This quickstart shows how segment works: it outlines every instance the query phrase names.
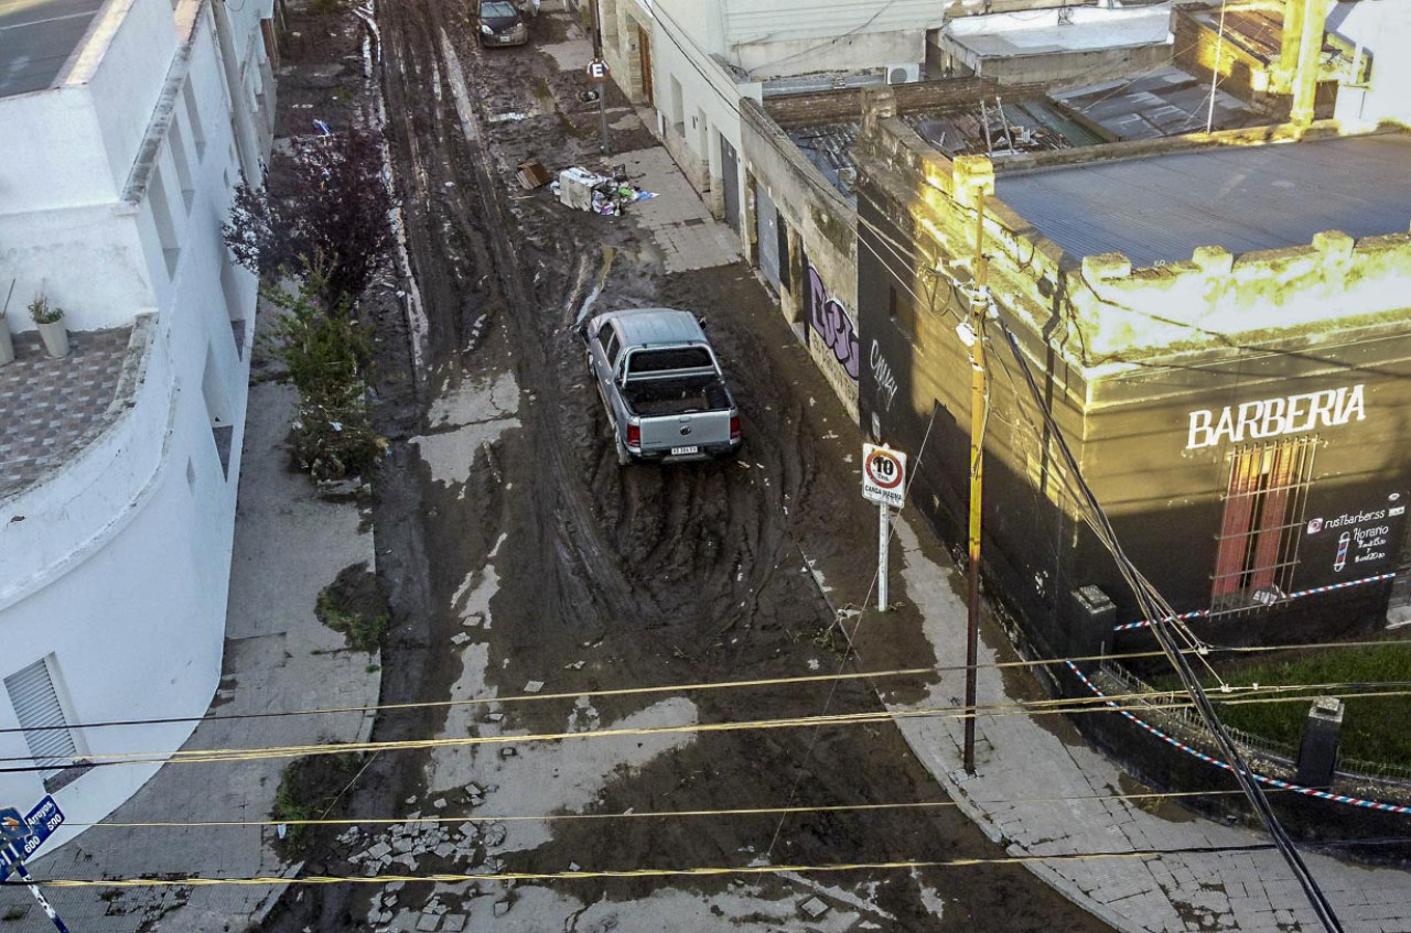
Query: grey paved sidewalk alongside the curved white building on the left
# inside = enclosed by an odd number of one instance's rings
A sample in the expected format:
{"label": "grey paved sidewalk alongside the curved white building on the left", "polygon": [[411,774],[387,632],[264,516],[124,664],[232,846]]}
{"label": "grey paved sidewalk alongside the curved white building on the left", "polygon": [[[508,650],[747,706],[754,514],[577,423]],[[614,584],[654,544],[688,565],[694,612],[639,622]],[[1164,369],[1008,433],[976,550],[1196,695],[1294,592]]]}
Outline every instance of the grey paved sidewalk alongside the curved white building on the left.
{"label": "grey paved sidewalk alongside the curved white building on the left", "polygon": [[[340,569],[360,561],[373,567],[373,534],[360,527],[357,505],[323,502],[306,475],[291,472],[284,438],[293,400],[286,385],[250,388],[224,665],[209,715],[377,703],[378,657],[347,650],[343,636],[313,614],[319,591]],[[364,713],[206,722],[185,748],[356,741],[371,722]],[[107,822],[268,820],[288,762],[168,764]],[[30,867],[37,878],[288,875],[293,867],[275,857],[272,840],[268,826],[99,824]],[[237,885],[48,888],[47,896],[75,933],[226,933],[247,929],[278,892]],[[54,930],[24,888],[0,891],[0,915],[6,933]]]}

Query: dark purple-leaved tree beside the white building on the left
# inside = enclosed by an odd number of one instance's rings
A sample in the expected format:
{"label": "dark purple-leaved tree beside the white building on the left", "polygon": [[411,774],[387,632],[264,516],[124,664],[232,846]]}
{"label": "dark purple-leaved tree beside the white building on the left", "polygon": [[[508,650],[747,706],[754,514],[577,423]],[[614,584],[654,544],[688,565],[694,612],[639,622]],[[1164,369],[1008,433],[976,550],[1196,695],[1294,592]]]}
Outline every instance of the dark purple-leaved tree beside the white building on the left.
{"label": "dark purple-leaved tree beside the white building on the left", "polygon": [[356,300],[391,244],[392,194],[382,178],[381,134],[351,128],[298,137],[277,155],[267,186],[241,179],[222,228],[236,261],[272,276],[315,257],[330,309]]}

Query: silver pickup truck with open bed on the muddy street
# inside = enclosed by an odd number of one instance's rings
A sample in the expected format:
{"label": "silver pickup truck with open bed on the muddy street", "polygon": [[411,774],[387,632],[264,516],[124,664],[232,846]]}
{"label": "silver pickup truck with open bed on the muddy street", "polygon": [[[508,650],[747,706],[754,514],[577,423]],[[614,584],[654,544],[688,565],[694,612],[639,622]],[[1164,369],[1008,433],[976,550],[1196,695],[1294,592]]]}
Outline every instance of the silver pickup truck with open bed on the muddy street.
{"label": "silver pickup truck with open bed on the muddy street", "polygon": [[700,323],[642,307],[588,320],[588,368],[619,464],[708,459],[739,450],[739,410]]}

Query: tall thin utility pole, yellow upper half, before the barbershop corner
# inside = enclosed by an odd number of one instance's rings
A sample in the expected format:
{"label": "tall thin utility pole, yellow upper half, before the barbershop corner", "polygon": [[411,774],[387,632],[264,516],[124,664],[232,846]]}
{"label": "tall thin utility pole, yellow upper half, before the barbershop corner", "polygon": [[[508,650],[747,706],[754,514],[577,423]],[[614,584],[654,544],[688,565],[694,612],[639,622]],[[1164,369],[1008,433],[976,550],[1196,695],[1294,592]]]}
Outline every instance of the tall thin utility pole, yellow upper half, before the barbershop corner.
{"label": "tall thin utility pole, yellow upper half, before the barbershop corner", "polygon": [[975,192],[975,275],[971,286],[971,514],[965,613],[965,774],[975,774],[975,665],[979,654],[979,534],[985,483],[985,314],[989,310],[989,264],[985,261],[985,189]]}

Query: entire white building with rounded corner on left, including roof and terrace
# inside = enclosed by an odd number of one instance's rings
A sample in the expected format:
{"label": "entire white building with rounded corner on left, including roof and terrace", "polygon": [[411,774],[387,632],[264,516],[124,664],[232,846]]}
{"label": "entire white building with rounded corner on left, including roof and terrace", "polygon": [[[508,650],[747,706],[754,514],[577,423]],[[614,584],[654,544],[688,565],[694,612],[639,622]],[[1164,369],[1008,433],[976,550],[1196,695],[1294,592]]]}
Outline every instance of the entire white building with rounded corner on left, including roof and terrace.
{"label": "entire white building with rounded corner on left, including roof and terrace", "polygon": [[[220,679],[255,306],[220,225],[268,154],[271,16],[0,7],[0,757],[38,764],[0,774],[0,806],[102,819],[157,770],[104,757],[193,723],[95,723],[199,717]],[[66,358],[30,333],[41,292]]]}

